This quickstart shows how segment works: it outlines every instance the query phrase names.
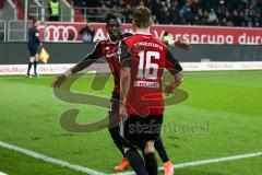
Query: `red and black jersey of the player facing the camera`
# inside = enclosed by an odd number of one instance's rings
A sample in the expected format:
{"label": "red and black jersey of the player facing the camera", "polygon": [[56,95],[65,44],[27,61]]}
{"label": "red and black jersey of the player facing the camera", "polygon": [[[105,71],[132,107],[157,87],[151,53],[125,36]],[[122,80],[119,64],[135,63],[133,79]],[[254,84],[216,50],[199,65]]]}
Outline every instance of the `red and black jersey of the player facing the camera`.
{"label": "red and black jersey of the player facing the camera", "polygon": [[81,62],[86,62],[84,67],[88,67],[97,59],[106,57],[109,68],[114,75],[115,88],[114,92],[119,93],[120,91],[120,62],[119,62],[119,43],[121,39],[132,36],[131,33],[123,33],[117,42],[111,42],[110,38],[102,39],[97,42],[95,48],[88,54]]}

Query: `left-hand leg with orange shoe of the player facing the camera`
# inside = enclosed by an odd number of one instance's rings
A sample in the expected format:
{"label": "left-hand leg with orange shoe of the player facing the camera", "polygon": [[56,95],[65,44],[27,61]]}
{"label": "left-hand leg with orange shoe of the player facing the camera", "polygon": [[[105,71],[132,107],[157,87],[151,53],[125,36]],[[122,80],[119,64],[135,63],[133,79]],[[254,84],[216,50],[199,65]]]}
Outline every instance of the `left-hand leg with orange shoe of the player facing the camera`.
{"label": "left-hand leg with orange shoe of the player facing the camera", "polygon": [[109,106],[109,113],[108,113],[108,130],[111,136],[111,139],[115,143],[115,145],[118,148],[118,150],[122,153],[123,159],[122,161],[114,167],[115,171],[123,171],[129,166],[128,159],[126,158],[126,154],[123,152],[123,148],[121,144],[121,137],[119,135],[119,95],[112,94],[110,106]]}

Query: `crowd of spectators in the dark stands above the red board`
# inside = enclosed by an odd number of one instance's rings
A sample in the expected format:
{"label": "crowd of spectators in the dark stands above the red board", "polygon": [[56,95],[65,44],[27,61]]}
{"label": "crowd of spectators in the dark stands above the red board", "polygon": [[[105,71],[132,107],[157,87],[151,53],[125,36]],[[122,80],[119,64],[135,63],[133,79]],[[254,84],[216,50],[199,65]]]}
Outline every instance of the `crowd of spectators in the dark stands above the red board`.
{"label": "crowd of spectators in the dark stands above the red board", "polygon": [[[73,0],[75,7],[109,8],[131,21],[135,7],[152,10],[155,24],[262,26],[262,0]],[[97,10],[88,14],[97,15]]]}

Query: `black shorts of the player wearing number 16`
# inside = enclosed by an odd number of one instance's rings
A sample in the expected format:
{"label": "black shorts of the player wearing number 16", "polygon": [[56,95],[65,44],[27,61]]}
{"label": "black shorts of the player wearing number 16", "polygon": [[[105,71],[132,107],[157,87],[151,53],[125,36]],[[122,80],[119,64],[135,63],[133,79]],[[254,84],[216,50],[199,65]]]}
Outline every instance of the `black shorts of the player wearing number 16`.
{"label": "black shorts of the player wearing number 16", "polygon": [[155,141],[159,138],[162,122],[163,115],[150,115],[147,117],[130,115],[126,120],[120,121],[122,144],[144,150],[147,141]]}

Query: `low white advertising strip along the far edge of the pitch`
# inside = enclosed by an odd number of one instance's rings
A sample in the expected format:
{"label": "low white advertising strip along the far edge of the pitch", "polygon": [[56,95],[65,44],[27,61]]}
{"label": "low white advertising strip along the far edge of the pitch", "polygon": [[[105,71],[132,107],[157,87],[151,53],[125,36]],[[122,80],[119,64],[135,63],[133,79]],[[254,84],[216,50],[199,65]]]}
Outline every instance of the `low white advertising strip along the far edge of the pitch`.
{"label": "low white advertising strip along the far edge of the pitch", "polygon": [[[40,74],[61,74],[74,63],[39,65]],[[262,61],[226,61],[226,62],[181,62],[183,71],[217,71],[217,70],[262,70]],[[0,65],[0,75],[25,74],[27,65]],[[109,72],[107,63],[94,63],[81,73]]]}

